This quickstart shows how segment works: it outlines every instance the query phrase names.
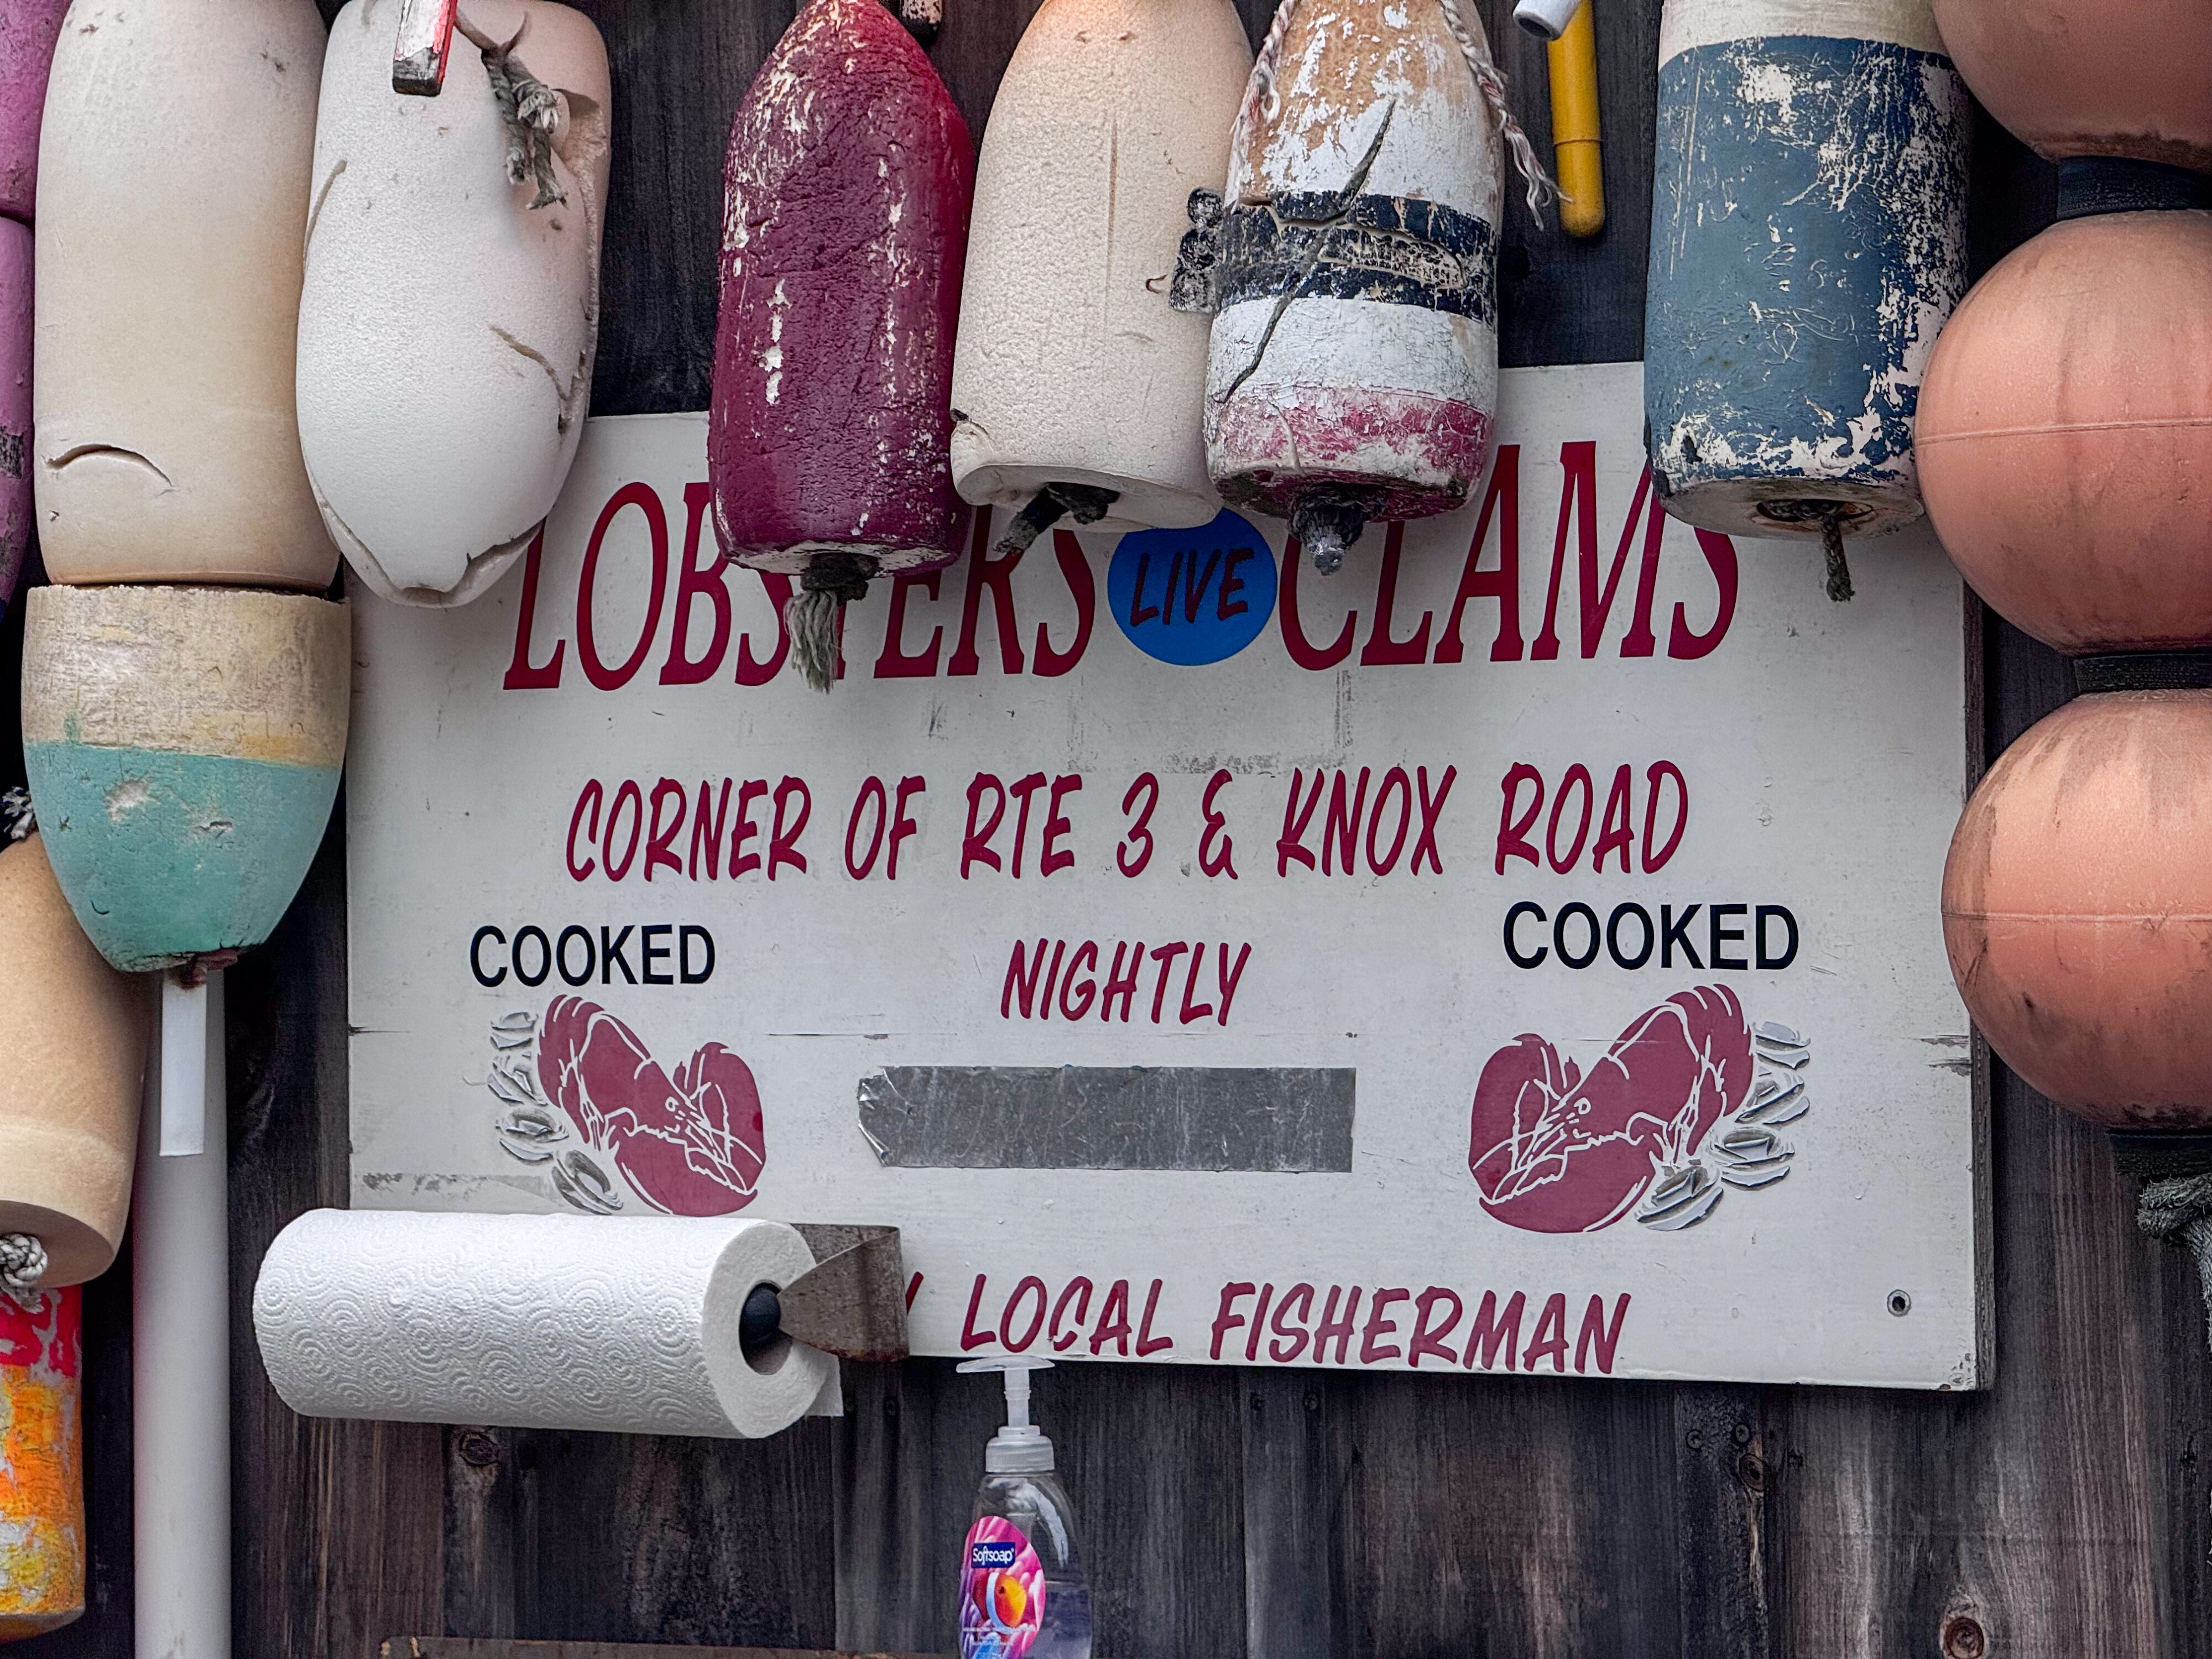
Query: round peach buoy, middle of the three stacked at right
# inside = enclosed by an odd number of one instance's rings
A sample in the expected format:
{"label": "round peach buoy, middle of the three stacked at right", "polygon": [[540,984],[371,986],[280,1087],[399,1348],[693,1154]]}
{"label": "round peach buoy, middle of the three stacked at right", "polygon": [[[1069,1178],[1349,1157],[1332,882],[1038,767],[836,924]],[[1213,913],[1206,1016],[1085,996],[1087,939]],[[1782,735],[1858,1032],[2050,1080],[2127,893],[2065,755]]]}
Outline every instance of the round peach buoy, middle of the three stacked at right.
{"label": "round peach buoy, middle of the three stacked at right", "polygon": [[2212,212],[2068,219],[1936,343],[1920,487],[1989,604],[2068,653],[2212,644]]}

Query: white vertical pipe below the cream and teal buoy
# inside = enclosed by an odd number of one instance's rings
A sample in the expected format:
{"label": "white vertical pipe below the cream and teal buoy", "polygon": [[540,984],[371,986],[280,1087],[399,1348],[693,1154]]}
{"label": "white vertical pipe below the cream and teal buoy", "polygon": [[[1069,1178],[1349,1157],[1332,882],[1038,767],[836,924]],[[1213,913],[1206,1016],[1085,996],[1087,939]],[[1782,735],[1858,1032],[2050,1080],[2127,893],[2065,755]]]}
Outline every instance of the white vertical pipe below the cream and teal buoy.
{"label": "white vertical pipe below the cream and teal buoy", "polygon": [[[197,1029],[184,1018],[188,1006],[204,1011]],[[137,1659],[230,1659],[230,1212],[221,1031],[221,973],[208,975],[204,993],[164,989],[161,1048],[146,1068],[131,1210]],[[190,1155],[170,1152],[170,1104],[190,1093],[166,1086],[168,1079],[190,1082],[179,1062],[197,1064],[201,1084],[199,1150]],[[179,1133],[184,1128],[179,1121]]]}

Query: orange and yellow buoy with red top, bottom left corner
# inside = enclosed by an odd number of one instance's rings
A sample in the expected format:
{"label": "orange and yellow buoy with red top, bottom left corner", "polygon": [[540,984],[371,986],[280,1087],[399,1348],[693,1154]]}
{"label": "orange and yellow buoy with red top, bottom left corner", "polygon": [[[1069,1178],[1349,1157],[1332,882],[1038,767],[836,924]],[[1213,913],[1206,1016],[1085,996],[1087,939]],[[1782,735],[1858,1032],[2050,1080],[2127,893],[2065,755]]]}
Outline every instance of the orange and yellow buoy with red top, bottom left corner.
{"label": "orange and yellow buoy with red top, bottom left corner", "polygon": [[0,1641],[84,1613],[84,1294],[0,1290]]}

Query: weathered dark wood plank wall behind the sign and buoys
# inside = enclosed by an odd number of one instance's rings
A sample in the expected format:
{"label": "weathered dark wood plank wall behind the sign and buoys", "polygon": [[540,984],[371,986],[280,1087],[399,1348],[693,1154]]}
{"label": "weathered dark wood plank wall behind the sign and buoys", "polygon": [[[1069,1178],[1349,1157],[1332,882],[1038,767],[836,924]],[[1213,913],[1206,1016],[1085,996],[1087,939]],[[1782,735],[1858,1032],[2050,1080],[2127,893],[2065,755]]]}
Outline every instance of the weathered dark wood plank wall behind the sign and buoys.
{"label": "weathered dark wood plank wall behind the sign and buoys", "polygon": [[[336,4],[323,0],[325,13]],[[1597,0],[1610,228],[1513,204],[1509,363],[1641,354],[1657,0]],[[617,179],[595,409],[706,403],[721,144],[794,0],[586,0]],[[1254,35],[1267,0],[1241,0]],[[1033,0],[953,0],[936,51],[980,133]],[[1542,53],[1484,0],[1531,131]],[[1986,122],[1980,265],[2051,212]],[[1989,754],[2068,695],[1978,635]],[[0,653],[20,648],[20,626]],[[0,659],[13,686],[15,657]],[[20,768],[13,774],[20,779]],[[1929,894],[1929,929],[1936,896]],[[847,1416],[765,1444],[301,1422],[248,1296],[296,1212],[345,1201],[334,827],[230,982],[239,1655],[385,1637],[942,1652],[993,1389],[852,1367]],[[1062,1369],[1037,1405],[1088,1528],[1099,1652],[1513,1659],[2212,1655],[2203,1312],[2095,1135],[1993,1068],[1997,1387],[1978,1396],[1194,1369]],[[1750,1270],[1750,1267],[1747,1267]],[[128,1652],[128,1276],[88,1296],[93,1610],[27,1659]],[[429,1646],[425,1648],[429,1650]]]}

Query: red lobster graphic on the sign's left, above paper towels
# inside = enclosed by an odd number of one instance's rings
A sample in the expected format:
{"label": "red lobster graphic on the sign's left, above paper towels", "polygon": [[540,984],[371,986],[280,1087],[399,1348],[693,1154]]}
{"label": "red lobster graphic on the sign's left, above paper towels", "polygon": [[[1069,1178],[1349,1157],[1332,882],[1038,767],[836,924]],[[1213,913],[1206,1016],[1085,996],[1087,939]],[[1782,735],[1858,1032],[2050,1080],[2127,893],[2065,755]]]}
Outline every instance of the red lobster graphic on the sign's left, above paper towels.
{"label": "red lobster graphic on the sign's left, above paper towels", "polygon": [[606,1009],[553,998],[538,1026],[538,1082],[655,1210],[730,1214],[752,1203],[768,1164],[761,1091],[719,1042],[670,1079]]}

